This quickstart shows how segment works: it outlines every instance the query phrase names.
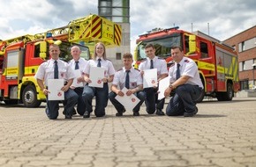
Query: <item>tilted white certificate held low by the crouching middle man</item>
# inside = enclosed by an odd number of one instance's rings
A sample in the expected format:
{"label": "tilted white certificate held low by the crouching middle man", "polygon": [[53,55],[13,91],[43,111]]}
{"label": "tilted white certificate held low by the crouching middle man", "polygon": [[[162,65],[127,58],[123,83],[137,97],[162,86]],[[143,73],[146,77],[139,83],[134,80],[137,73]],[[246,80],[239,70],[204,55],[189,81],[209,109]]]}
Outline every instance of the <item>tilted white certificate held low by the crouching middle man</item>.
{"label": "tilted white certificate held low by the crouching middle man", "polygon": [[137,98],[134,94],[127,96],[126,95],[126,91],[127,88],[123,88],[122,90],[124,92],[124,97],[120,97],[117,95],[116,99],[119,103],[121,103],[122,105],[124,105],[124,108],[128,111],[132,111],[132,109],[138,105],[139,103],[139,98]]}

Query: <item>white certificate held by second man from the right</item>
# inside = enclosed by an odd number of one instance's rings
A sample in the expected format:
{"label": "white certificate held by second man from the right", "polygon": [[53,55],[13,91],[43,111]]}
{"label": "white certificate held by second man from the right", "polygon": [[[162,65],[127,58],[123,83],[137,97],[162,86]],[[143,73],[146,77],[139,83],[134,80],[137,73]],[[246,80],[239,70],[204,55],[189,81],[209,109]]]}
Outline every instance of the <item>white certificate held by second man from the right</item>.
{"label": "white certificate held by second man from the right", "polygon": [[146,69],[143,75],[143,88],[157,86],[157,69]]}

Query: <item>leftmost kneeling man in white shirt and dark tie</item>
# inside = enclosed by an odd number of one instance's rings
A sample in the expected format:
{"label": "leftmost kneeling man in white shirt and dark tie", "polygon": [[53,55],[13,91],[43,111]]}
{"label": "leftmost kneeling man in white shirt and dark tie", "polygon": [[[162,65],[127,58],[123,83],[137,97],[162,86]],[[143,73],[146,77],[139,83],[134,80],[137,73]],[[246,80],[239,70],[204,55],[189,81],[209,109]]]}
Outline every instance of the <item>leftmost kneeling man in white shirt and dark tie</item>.
{"label": "leftmost kneeling man in white shirt and dark tie", "polygon": [[[64,86],[61,88],[64,91],[64,110],[65,119],[72,119],[72,109],[78,101],[78,95],[70,89],[72,85],[73,78],[75,78],[74,72],[67,62],[61,61],[59,59],[60,49],[56,44],[49,46],[49,54],[51,59],[47,62],[41,63],[39,69],[35,74],[37,84],[40,86],[41,91],[47,97],[47,106],[46,114],[49,117],[49,120],[56,120],[59,110],[59,101],[58,100],[48,100],[48,80],[49,79],[64,79]],[[55,70],[57,67],[58,70]],[[55,71],[56,74],[55,74]]]}

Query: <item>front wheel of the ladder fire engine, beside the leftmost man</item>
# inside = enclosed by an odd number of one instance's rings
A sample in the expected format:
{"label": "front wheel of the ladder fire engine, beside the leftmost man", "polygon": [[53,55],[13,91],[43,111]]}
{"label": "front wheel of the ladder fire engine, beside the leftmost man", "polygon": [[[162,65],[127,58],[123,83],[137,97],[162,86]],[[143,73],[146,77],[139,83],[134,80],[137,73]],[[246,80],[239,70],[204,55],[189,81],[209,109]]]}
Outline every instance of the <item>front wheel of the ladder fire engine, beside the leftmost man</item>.
{"label": "front wheel of the ladder fire engine, beside the leftmost man", "polygon": [[36,91],[33,85],[27,85],[22,92],[22,102],[26,107],[33,108],[41,105],[41,101],[36,98]]}

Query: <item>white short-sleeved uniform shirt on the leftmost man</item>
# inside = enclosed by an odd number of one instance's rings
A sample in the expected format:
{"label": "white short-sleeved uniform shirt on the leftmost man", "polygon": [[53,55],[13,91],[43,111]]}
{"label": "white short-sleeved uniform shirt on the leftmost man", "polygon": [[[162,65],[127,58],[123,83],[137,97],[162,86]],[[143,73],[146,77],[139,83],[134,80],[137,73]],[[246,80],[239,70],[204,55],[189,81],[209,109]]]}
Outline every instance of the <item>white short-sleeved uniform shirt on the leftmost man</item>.
{"label": "white short-sleeved uniform shirt on the leftmost man", "polygon": [[[54,79],[54,62],[55,60],[50,59],[47,62],[42,62],[39,66],[35,78],[44,80],[44,84],[48,86],[48,79]],[[67,62],[57,60],[57,67],[58,67],[58,78],[64,79],[64,82],[75,78],[74,71],[68,65]]]}

